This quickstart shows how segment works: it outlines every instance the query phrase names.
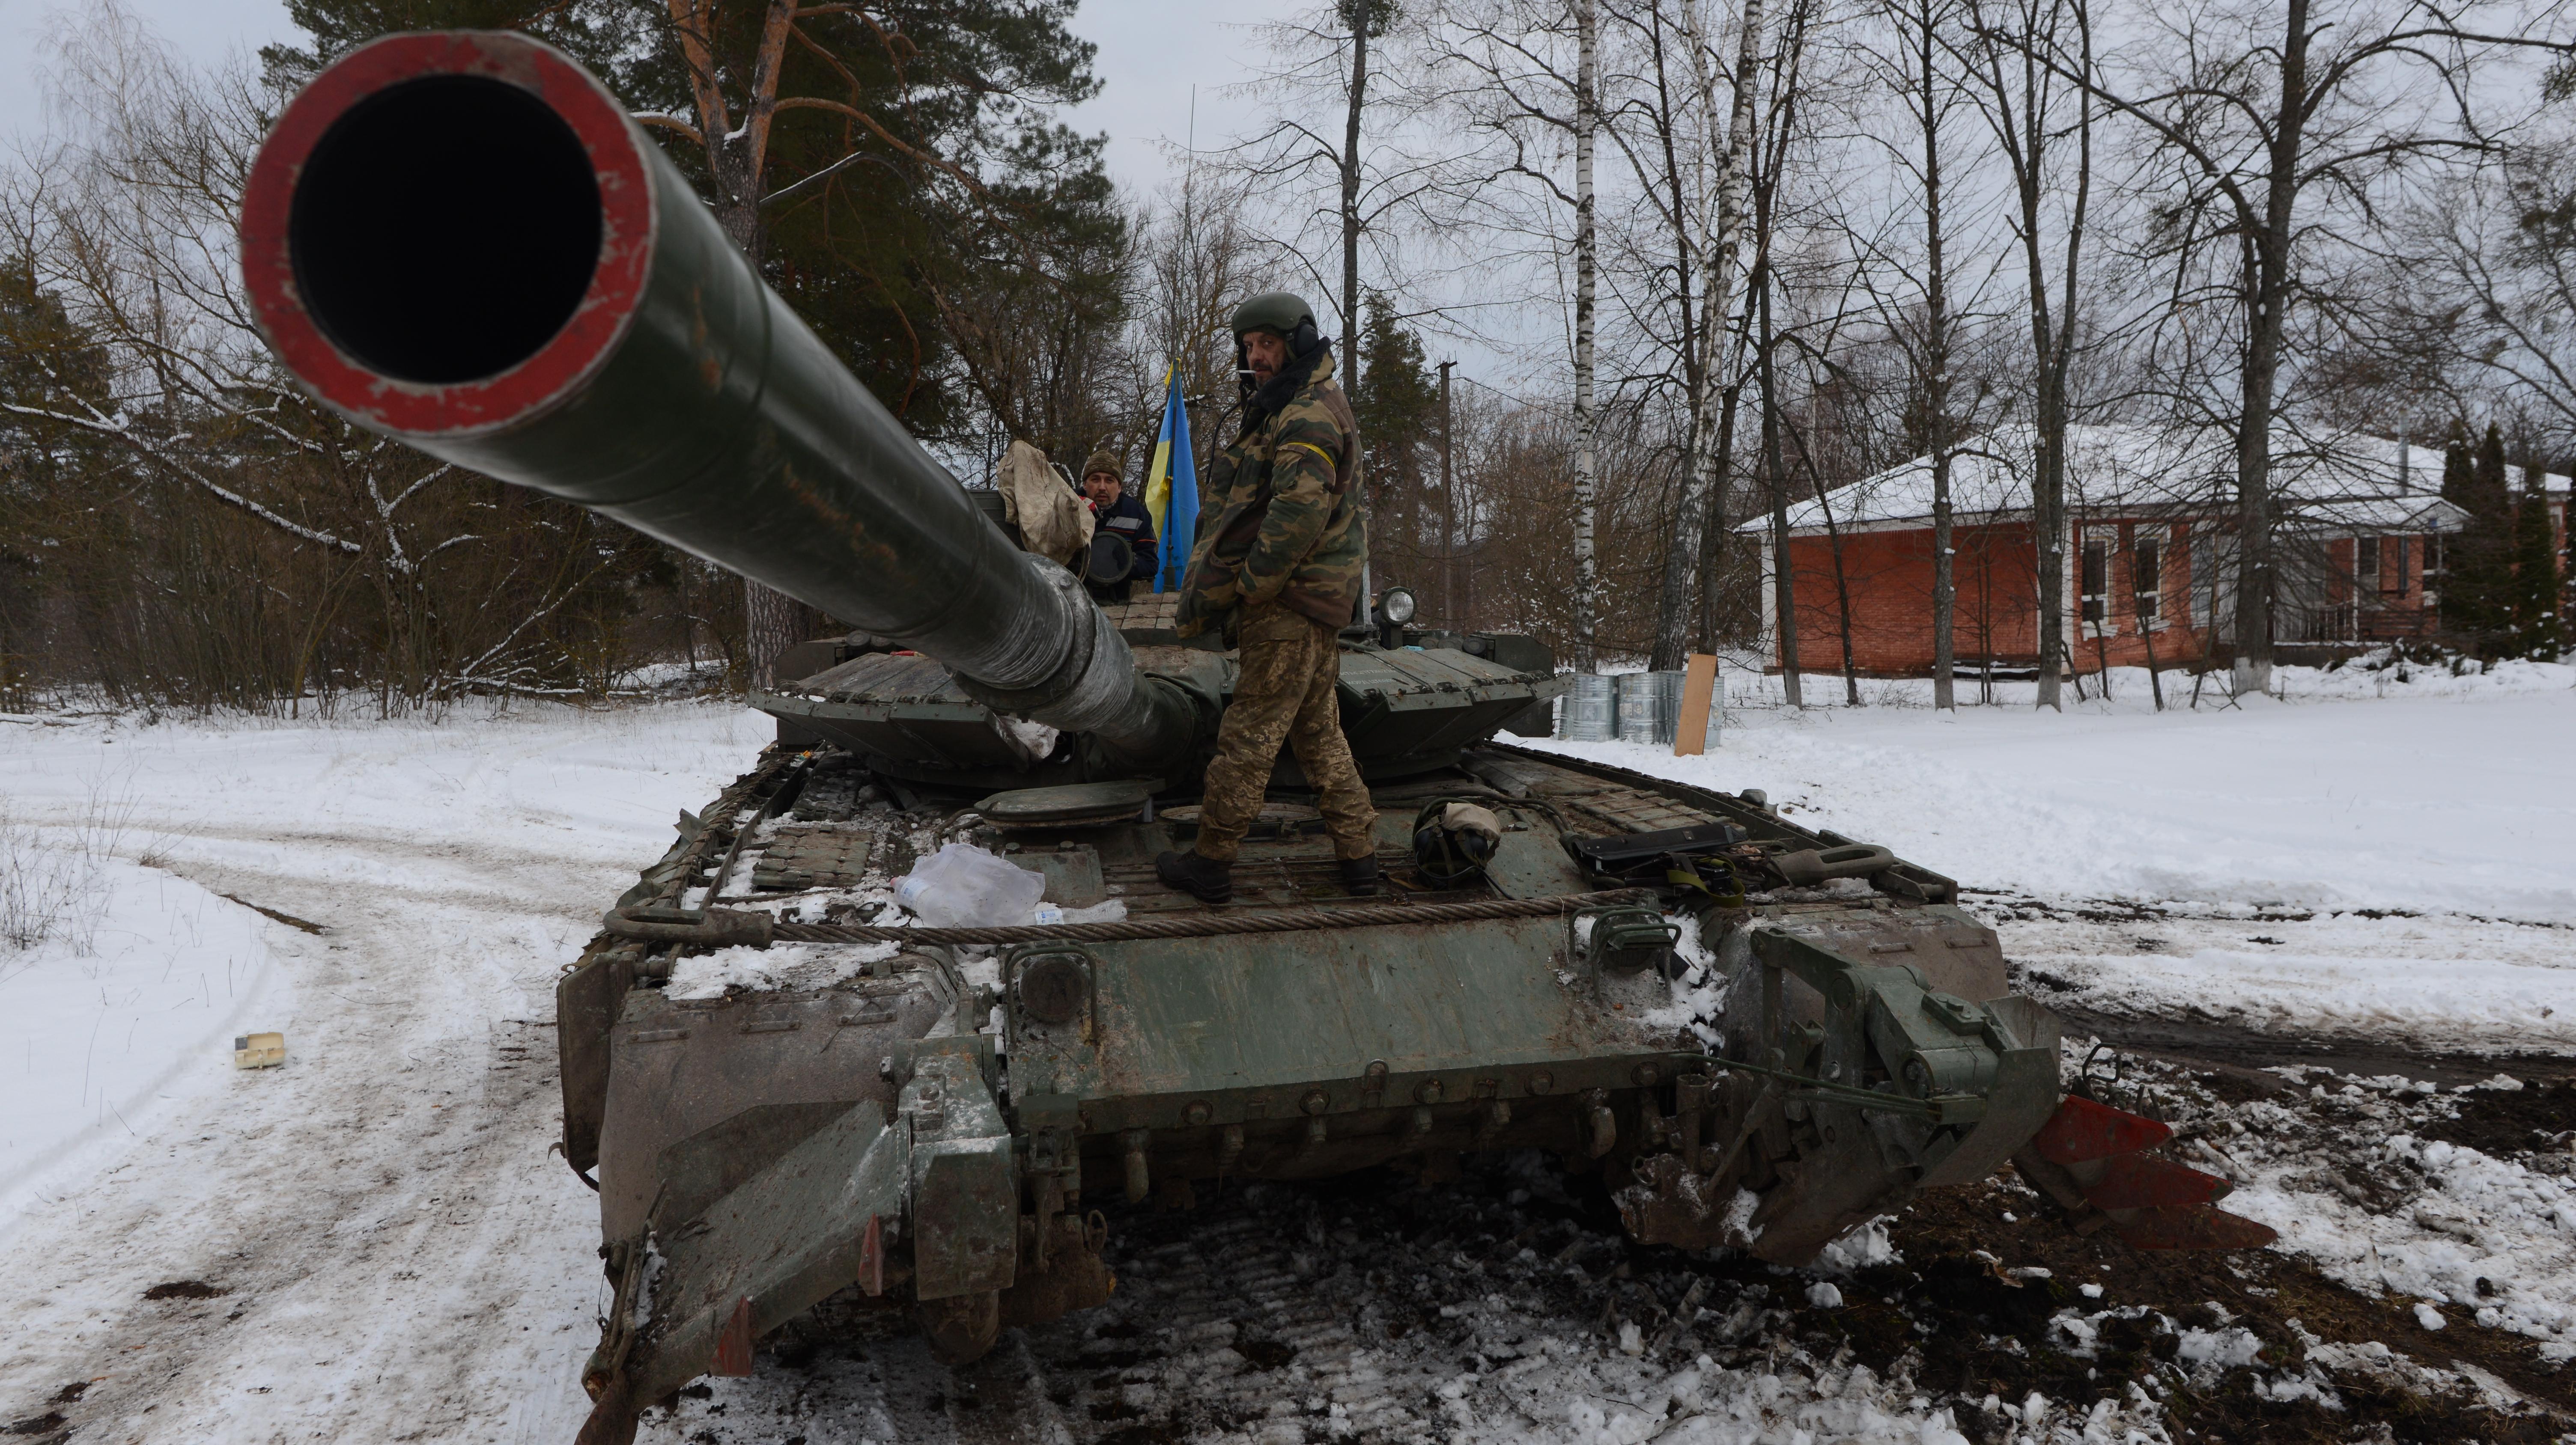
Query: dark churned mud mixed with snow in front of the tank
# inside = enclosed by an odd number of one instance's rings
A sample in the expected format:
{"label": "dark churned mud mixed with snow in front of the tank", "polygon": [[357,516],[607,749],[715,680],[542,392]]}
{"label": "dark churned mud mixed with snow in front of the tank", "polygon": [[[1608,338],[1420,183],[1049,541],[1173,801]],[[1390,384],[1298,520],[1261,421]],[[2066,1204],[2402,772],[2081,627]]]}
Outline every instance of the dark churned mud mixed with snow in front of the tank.
{"label": "dark churned mud mixed with snow in front of the tank", "polygon": [[[2179,1157],[2295,1164],[2360,1208],[2421,1208],[2372,1159],[2393,1126],[2576,1175],[2576,1061],[2522,1090],[2424,1092],[2318,1069],[2298,1041],[2226,1059],[2112,1043],[2071,1066],[2177,1126]],[[2494,1077],[2483,1059],[2416,1059]],[[2347,1090],[2349,1084],[2349,1090]],[[2269,1144],[2264,1144],[2269,1138]],[[2244,1164],[2249,1175],[2277,1172]],[[1842,1260],[1780,1270],[1625,1242],[1597,1180],[1492,1157],[1450,1185],[1373,1172],[1110,1211],[1113,1303],[940,1370],[917,1339],[832,1308],[750,1381],[693,1386],[647,1440],[2262,1440],[2576,1437],[2576,1365],[2543,1339],[2264,1249],[2141,1254],[2079,1236],[2009,1172],[1883,1221]],[[2481,1288],[2486,1280],[2481,1280]]]}

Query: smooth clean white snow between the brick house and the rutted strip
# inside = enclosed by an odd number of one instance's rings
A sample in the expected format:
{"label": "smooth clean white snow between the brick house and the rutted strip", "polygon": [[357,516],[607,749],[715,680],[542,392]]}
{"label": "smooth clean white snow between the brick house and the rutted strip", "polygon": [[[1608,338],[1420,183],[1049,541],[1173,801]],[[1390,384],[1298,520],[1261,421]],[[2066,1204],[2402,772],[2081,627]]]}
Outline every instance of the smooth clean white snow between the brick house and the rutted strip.
{"label": "smooth clean white snow between the brick house and the rutted strip", "polygon": [[[2411,683],[2282,670],[2282,683],[2290,701],[2156,713],[2146,675],[2125,672],[2115,701],[2066,716],[2027,703],[1935,713],[1924,683],[1862,683],[1875,706],[1731,706],[1721,750],[1698,762],[1571,747],[1767,788],[1801,822],[1984,889],[2576,925],[2576,750],[2563,742],[2576,667]],[[1808,677],[1806,695],[1839,703],[1842,680]]]}

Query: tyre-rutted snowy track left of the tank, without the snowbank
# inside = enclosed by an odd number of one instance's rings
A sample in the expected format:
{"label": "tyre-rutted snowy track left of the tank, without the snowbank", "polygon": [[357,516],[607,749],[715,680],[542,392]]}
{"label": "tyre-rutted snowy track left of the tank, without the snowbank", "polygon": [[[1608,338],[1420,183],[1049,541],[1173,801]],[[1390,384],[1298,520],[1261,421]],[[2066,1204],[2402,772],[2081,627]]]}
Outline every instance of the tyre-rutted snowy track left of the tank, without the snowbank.
{"label": "tyre-rutted snowy track left of the tank, without the snowbank", "polygon": [[[299,992],[286,1069],[227,1079],[0,1239],[0,1422],[52,1412],[80,1440],[137,1442],[569,1440],[598,1223],[549,1154],[538,1023],[590,909],[757,747],[734,719],[309,729],[286,750],[273,729],[121,734],[134,837],[327,932],[268,930]],[[654,744],[688,768],[647,765]],[[209,762],[242,752],[263,755],[263,788]],[[227,1293],[142,1298],[170,1280]],[[72,1383],[88,1388],[54,1401]]]}

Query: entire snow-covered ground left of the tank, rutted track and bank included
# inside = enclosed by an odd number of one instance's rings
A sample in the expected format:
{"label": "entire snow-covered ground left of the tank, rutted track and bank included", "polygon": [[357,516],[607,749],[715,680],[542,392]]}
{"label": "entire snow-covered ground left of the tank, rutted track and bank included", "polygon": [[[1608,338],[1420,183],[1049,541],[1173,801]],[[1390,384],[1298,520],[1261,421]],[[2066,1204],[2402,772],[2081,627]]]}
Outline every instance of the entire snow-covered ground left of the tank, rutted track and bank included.
{"label": "entire snow-covered ground left of the tank, rutted track and bank included", "polygon": [[[41,1079],[0,1095],[0,1424],[67,1396],[82,1440],[569,1440],[598,1216],[546,1151],[554,974],[765,734],[0,732],[10,817],[62,837],[108,793],[126,853],[95,953],[0,950],[0,1077]],[[286,1066],[234,1072],[252,1028]],[[173,1283],[204,1288],[147,1298]]]}

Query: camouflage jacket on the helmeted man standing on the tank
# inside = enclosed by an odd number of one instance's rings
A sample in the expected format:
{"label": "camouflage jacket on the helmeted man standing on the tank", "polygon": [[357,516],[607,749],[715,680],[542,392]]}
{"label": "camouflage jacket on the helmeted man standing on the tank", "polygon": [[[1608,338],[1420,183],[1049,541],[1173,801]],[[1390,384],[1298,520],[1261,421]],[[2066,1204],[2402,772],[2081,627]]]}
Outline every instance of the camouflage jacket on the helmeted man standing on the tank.
{"label": "camouflage jacket on the helmeted man standing on the tank", "polygon": [[[1270,392],[1265,386],[1262,392]],[[1257,407],[1208,466],[1198,543],[1180,585],[1180,636],[1229,626],[1247,603],[1280,603],[1324,626],[1360,608],[1360,422],[1332,379],[1332,350],[1267,415]]]}

